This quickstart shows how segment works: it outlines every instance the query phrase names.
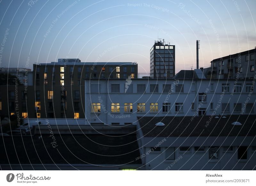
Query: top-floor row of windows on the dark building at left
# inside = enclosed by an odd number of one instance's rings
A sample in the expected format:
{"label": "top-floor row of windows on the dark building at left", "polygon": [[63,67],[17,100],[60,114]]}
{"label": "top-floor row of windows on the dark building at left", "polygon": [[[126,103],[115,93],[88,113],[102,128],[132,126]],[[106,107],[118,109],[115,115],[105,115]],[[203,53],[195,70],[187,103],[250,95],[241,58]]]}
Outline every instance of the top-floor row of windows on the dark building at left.
{"label": "top-floor row of windows on the dark building at left", "polygon": [[[52,72],[55,72],[55,68],[56,67],[52,67]],[[67,67],[60,66],[60,72],[65,72],[66,68]],[[102,72],[105,72],[106,68],[107,67],[100,67]],[[127,72],[127,68],[128,68],[127,66],[122,66],[122,68],[123,68],[123,72]],[[97,72],[97,66],[95,66],[95,67],[84,66],[84,69],[85,69],[85,72],[90,72],[90,69],[93,70],[94,72]],[[108,67],[108,69],[109,69],[109,72],[113,72],[114,68],[112,66],[110,66],[110,67]],[[117,66],[115,69],[116,69],[116,72],[120,72],[120,66]],[[39,67],[36,68],[36,72],[40,72]],[[47,72],[48,72],[48,67],[45,67],[44,68],[44,73],[47,73]],[[74,66],[69,67],[69,72],[71,72],[71,73],[74,72]],[[81,66],[77,67],[77,72],[82,72],[82,67]],[[131,66],[131,72],[135,72],[135,67],[134,66]]]}

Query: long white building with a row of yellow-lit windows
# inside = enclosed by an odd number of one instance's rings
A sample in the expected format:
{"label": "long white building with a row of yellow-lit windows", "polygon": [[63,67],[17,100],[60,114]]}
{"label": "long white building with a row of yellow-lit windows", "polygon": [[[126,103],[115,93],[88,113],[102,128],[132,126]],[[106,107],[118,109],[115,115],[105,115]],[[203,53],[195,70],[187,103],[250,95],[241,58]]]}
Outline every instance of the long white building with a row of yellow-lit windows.
{"label": "long white building with a row of yellow-lit windows", "polygon": [[[199,73],[199,71],[201,73]],[[137,117],[255,114],[254,79],[207,79],[201,70],[175,78],[85,81],[87,124],[135,124]]]}

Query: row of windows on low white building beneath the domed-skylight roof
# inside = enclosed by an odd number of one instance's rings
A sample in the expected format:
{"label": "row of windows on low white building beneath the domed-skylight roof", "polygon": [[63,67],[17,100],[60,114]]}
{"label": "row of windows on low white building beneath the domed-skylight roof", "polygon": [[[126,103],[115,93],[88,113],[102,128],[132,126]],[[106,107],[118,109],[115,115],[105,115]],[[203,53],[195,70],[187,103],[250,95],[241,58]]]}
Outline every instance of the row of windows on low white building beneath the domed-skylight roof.
{"label": "row of windows on low white building beneath the domed-skylight roof", "polygon": [[[256,146],[252,146],[252,152],[256,151]],[[162,153],[165,150],[165,159],[166,160],[174,160],[176,159],[175,157],[175,152],[179,151],[181,153],[191,153],[191,149],[192,147],[179,147],[179,148],[175,148],[175,147],[151,147],[151,153]],[[207,150],[206,150],[207,149]],[[211,146],[211,147],[204,147],[204,146],[195,146],[194,147],[194,152],[195,153],[204,153],[206,154],[208,151],[208,159],[212,159],[212,160],[218,160],[220,159],[220,149],[222,150],[223,154],[226,153],[235,153],[235,147],[233,146],[223,146],[218,147],[218,146]],[[248,159],[248,151],[249,151],[249,147],[248,146],[239,146],[237,147],[237,159]]]}

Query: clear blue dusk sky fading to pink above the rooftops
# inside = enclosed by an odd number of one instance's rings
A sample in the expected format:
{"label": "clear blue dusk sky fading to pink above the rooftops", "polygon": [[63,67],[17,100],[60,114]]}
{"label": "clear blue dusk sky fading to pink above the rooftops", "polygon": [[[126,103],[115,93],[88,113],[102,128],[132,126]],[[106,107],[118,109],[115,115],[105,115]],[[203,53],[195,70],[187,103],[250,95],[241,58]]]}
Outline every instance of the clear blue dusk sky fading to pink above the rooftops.
{"label": "clear blue dusk sky fading to pink above the rooftops", "polygon": [[176,46],[176,73],[195,68],[196,40],[199,67],[209,67],[214,58],[256,46],[255,7],[255,0],[1,0],[0,67],[25,68],[28,57],[31,69],[80,58],[137,62],[139,73],[149,73],[157,37]]}

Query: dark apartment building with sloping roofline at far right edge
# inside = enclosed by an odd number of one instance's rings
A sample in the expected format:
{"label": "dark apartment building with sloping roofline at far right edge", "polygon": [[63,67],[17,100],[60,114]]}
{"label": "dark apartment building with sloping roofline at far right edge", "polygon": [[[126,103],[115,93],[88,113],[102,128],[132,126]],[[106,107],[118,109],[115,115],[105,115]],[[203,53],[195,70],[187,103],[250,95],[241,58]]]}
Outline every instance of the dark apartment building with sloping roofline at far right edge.
{"label": "dark apartment building with sloping roofline at far right edge", "polygon": [[213,59],[205,76],[207,78],[253,78],[255,75],[256,49],[238,52]]}

